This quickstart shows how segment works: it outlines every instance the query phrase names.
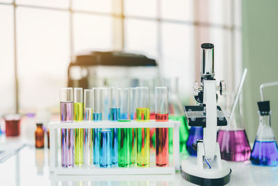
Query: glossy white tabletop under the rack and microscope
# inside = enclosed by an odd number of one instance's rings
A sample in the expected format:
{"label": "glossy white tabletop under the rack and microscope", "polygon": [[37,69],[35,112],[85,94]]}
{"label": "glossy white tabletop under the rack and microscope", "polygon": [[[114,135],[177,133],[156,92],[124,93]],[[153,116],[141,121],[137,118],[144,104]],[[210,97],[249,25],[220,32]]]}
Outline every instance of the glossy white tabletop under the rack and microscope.
{"label": "glossy white tabletop under the rack and microscope", "polygon": [[[278,185],[278,166],[254,166],[250,162],[230,162],[228,185]],[[0,163],[0,185],[193,185],[174,176],[53,176],[49,175],[49,149],[25,146]],[[52,183],[52,184],[51,184]]]}

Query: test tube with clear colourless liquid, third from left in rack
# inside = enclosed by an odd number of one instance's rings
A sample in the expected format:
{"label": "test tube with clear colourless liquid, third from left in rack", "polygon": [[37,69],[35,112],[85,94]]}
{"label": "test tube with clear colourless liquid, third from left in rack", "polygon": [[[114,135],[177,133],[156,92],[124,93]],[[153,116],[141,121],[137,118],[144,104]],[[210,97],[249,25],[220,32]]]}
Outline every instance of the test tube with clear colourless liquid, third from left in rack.
{"label": "test tube with clear colourless liquid, third from left in rack", "polygon": [[[92,102],[93,91],[91,89],[84,90],[84,120],[92,121]],[[92,160],[92,129],[84,129],[84,151],[83,151],[83,164],[90,166]]]}

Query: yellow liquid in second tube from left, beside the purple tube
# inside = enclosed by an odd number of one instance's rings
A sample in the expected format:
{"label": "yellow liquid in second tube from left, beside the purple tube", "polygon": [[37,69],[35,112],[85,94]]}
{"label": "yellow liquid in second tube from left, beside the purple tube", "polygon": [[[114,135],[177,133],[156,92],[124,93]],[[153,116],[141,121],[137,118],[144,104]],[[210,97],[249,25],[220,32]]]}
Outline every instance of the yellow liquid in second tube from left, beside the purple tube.
{"label": "yellow liquid in second tube from left, beside the purple tube", "polygon": [[[83,121],[83,103],[82,102],[74,102],[74,121]],[[83,129],[75,129],[74,134],[74,163],[76,166],[83,165]]]}

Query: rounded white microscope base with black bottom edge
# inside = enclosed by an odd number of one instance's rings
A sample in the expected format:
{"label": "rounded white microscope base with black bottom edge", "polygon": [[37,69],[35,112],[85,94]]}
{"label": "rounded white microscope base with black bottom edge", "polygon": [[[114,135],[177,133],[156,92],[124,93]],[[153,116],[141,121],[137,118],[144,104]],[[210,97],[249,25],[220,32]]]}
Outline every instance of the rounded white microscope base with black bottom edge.
{"label": "rounded white microscope base with black bottom edge", "polygon": [[221,160],[222,169],[199,169],[196,157],[188,157],[181,163],[181,176],[197,185],[226,185],[230,181],[229,164]]}

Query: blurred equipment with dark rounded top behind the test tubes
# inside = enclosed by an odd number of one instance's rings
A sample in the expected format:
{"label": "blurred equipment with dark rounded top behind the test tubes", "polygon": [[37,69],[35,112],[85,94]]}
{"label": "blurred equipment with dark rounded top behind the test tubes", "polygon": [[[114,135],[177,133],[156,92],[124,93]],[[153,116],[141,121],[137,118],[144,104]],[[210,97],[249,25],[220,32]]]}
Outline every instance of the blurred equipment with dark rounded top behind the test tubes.
{"label": "blurred equipment with dark rounded top behind the test tubes", "polygon": [[154,59],[128,52],[79,54],[68,67],[68,87],[134,87],[138,79],[158,77]]}

